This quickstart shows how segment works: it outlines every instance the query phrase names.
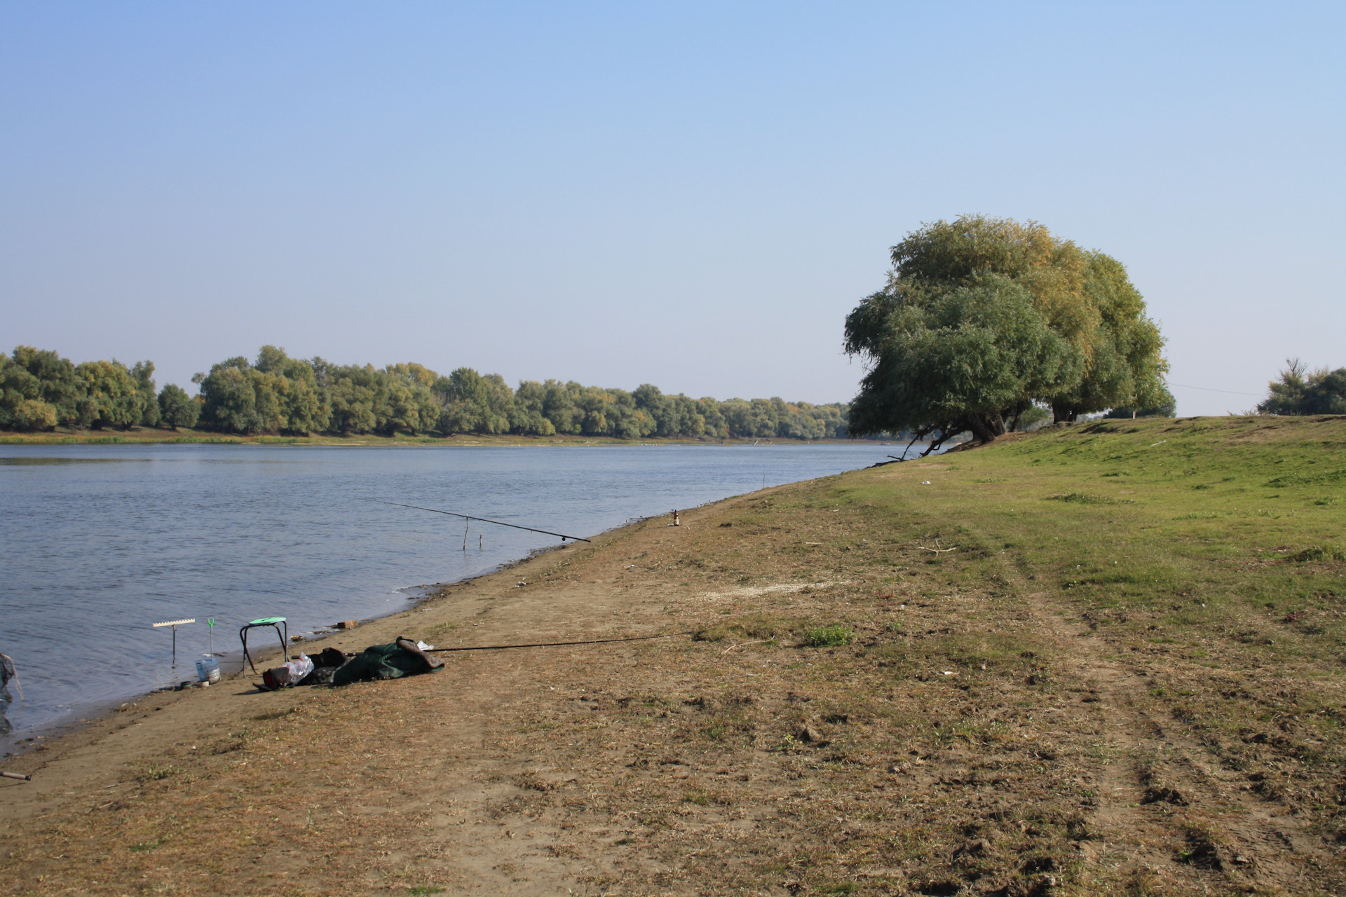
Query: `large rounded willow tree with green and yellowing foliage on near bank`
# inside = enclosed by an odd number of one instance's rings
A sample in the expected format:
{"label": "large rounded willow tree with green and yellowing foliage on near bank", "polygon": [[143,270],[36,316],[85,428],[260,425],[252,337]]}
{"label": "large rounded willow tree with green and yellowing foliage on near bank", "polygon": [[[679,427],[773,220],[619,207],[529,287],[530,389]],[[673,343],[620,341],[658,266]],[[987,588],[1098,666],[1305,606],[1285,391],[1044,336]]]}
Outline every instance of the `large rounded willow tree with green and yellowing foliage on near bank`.
{"label": "large rounded willow tree with green and yellowing foliage on near bank", "polygon": [[882,290],[845,321],[868,366],[851,433],[983,442],[1034,403],[1057,421],[1167,397],[1163,338],[1125,268],[1035,222],[964,215],[892,247]]}

